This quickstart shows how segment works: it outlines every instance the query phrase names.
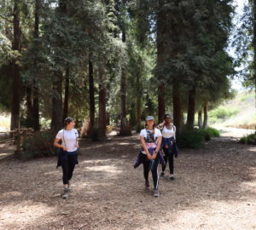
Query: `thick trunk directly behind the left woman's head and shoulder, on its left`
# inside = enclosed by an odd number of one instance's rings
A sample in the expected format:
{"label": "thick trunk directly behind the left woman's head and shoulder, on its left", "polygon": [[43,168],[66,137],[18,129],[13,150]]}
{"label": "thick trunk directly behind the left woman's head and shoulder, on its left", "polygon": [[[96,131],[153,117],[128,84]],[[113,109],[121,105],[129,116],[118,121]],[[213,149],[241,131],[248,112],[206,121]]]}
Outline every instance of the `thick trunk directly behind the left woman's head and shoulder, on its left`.
{"label": "thick trunk directly behind the left woman's head and shoulder, on its left", "polygon": [[52,117],[50,128],[56,133],[62,127],[62,73],[56,72],[53,84]]}

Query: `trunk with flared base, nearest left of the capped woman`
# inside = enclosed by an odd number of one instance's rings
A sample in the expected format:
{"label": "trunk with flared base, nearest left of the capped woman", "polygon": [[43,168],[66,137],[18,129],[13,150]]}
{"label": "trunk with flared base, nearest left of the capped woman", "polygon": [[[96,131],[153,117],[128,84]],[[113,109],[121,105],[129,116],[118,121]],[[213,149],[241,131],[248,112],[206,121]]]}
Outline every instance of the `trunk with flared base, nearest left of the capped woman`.
{"label": "trunk with flared base, nearest left of the capped woman", "polygon": [[[122,41],[125,43],[125,29],[122,31]],[[121,74],[121,87],[120,87],[120,95],[121,95],[121,116],[120,116],[120,131],[119,135],[131,135],[131,129],[128,125],[128,121],[126,119],[126,70],[125,66],[122,67]]]}

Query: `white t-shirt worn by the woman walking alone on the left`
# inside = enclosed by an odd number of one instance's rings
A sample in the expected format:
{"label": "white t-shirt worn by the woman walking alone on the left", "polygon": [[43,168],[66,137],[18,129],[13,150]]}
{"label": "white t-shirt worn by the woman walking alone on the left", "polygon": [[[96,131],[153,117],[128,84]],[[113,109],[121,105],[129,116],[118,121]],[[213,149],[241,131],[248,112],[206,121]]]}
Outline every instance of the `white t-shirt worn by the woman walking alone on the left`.
{"label": "white t-shirt worn by the woman walking alone on the left", "polygon": [[[64,131],[64,132],[63,132]],[[63,135],[64,135],[64,140],[63,140]],[[74,152],[78,148],[75,147],[77,143],[77,138],[79,137],[79,133],[77,129],[61,129],[57,135],[57,139],[61,139],[62,143],[61,145],[64,147],[67,147],[67,152]]]}

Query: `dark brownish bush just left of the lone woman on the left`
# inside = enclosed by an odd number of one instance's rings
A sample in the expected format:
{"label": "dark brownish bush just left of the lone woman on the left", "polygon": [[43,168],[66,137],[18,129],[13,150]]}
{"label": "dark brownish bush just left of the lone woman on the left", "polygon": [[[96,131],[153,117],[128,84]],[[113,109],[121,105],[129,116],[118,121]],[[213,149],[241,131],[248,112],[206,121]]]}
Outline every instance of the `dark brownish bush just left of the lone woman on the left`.
{"label": "dark brownish bush just left of the lone woman on the left", "polygon": [[54,139],[55,135],[50,130],[34,133],[23,142],[21,156],[23,158],[35,158],[55,155]]}

